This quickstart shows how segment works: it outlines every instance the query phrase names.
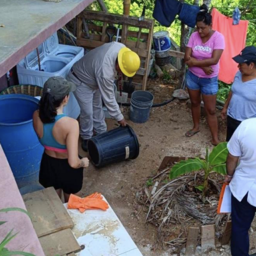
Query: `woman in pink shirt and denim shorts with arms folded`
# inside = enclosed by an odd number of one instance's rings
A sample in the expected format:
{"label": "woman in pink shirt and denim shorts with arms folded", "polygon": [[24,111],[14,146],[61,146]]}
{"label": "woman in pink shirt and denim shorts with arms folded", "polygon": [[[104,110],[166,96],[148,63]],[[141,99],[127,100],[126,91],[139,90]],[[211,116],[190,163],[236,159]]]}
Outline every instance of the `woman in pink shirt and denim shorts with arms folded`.
{"label": "woman in pink shirt and denim shorts with arms folded", "polygon": [[191,100],[193,129],[186,132],[191,137],[200,132],[201,94],[207,114],[212,141],[217,145],[218,120],[216,116],[216,98],[218,93],[219,60],[225,48],[224,36],[212,30],[212,17],[206,5],[202,5],[197,15],[197,32],[188,41],[185,51],[185,63],[188,66],[186,86]]}

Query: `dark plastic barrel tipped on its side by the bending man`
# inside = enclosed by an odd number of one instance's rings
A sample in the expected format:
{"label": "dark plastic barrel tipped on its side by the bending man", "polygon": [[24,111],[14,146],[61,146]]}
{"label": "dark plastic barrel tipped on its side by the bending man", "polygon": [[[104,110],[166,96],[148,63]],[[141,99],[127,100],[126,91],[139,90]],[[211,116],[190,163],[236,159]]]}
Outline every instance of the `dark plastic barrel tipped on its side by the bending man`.
{"label": "dark plastic barrel tipped on its side by the bending man", "polygon": [[139,141],[133,129],[126,125],[88,140],[88,153],[97,167],[139,156]]}

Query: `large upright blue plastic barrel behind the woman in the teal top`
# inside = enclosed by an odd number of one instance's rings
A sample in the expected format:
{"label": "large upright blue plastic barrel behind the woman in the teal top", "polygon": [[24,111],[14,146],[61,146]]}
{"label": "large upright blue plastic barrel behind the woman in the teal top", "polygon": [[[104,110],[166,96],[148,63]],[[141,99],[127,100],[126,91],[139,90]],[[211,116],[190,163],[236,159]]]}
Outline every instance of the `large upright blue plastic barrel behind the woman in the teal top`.
{"label": "large upright blue plastic barrel behind the woman in the teal top", "polygon": [[19,188],[38,180],[44,152],[32,124],[38,102],[23,94],[0,95],[0,144]]}

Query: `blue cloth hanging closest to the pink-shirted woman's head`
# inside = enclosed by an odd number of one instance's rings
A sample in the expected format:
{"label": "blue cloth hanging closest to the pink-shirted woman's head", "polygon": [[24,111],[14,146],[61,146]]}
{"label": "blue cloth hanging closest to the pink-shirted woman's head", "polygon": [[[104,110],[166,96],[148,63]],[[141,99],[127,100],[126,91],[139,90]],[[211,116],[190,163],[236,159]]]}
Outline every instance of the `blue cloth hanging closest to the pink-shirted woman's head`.
{"label": "blue cloth hanging closest to the pink-shirted woman's head", "polygon": [[179,14],[179,19],[188,27],[194,28],[196,26],[196,18],[199,11],[199,6],[184,3]]}

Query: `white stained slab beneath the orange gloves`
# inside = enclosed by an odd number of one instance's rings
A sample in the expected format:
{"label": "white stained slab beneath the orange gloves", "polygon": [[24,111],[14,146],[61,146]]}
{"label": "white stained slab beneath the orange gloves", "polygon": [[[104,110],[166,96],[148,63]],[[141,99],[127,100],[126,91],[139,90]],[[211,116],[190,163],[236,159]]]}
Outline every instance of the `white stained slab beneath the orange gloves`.
{"label": "white stained slab beneath the orange gloves", "polygon": [[68,212],[75,224],[72,232],[79,245],[85,246],[77,256],[143,256],[111,206],[106,211]]}

